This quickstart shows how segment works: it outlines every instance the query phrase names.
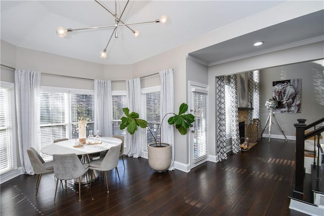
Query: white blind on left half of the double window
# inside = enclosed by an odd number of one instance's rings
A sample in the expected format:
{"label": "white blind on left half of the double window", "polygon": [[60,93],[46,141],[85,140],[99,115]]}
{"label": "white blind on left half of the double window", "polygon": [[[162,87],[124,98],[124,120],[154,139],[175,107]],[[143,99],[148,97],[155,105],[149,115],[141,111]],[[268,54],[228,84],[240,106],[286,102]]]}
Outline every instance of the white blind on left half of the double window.
{"label": "white blind on left half of the double window", "polygon": [[52,160],[52,156],[41,153],[41,149],[55,139],[67,137],[66,104],[66,93],[41,91],[41,139],[38,152],[45,161]]}

